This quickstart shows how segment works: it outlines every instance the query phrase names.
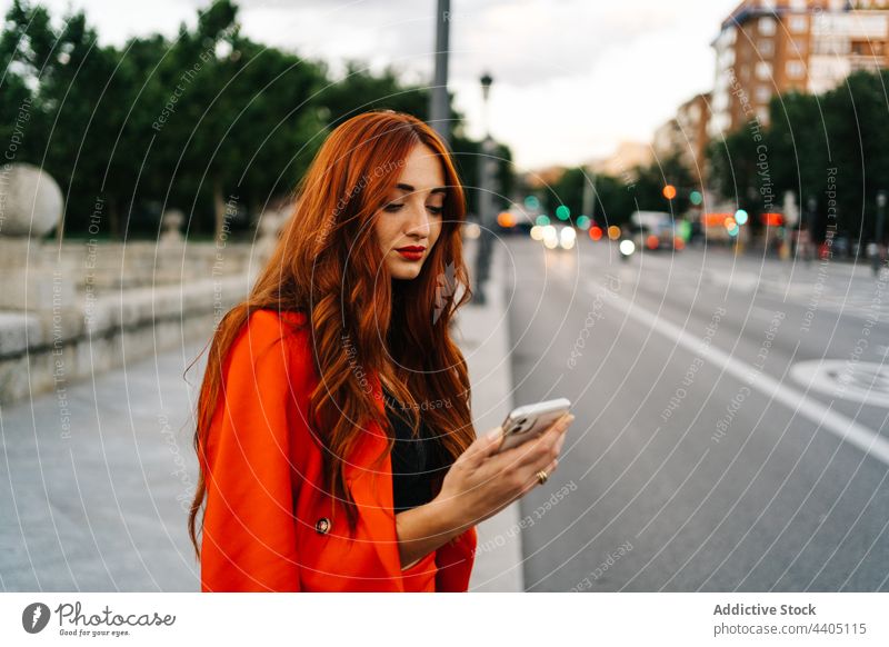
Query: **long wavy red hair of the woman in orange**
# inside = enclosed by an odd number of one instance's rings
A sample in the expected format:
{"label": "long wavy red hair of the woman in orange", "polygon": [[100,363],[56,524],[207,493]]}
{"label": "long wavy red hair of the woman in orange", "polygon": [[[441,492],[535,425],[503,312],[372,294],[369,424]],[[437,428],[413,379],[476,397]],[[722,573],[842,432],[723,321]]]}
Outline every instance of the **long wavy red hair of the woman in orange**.
{"label": "long wavy red hair of the woman in orange", "polygon": [[[448,189],[442,229],[420,275],[393,281],[373,223],[418,145],[441,160]],[[343,505],[350,531],[358,510],[343,466],[360,426],[376,420],[388,430],[392,447],[388,420],[351,368],[356,361],[402,404],[414,434],[422,410],[450,462],[476,438],[466,361],[449,334],[455,312],[471,298],[460,233],[466,200],[439,136],[416,117],[391,110],[352,117],[329,135],[294,198],[293,212],[248,298],[226,313],[210,340],[194,431],[201,470],[188,519],[198,556],[198,515],[207,494],[203,448],[220,404],[224,358],[252,310],[308,315],[319,376],[308,416],[324,448],[324,487]]]}

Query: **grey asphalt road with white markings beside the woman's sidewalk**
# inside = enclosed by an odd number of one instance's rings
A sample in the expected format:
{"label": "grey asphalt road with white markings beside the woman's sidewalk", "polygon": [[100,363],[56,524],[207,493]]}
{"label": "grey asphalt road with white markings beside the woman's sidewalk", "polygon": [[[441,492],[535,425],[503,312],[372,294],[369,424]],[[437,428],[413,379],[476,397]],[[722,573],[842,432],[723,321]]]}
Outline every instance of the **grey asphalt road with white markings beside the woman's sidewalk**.
{"label": "grey asphalt road with white markings beside the woman's sidewalk", "polygon": [[528,590],[889,590],[889,280],[505,242],[513,401],[577,416]]}

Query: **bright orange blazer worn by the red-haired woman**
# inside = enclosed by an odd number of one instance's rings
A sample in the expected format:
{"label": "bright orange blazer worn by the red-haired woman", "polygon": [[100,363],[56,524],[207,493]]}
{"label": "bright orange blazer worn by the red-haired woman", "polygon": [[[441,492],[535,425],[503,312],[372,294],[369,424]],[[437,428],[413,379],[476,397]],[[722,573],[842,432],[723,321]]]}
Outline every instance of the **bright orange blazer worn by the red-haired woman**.
{"label": "bright orange blazer worn by the red-haired woman", "polygon": [[[223,361],[206,448],[201,590],[467,590],[475,527],[401,570],[391,458],[369,467],[386,447],[376,422],[346,467],[359,514],[349,536],[344,510],[323,491],[322,449],[308,425],[319,379],[308,328],[282,339],[288,324],[306,320],[253,311]],[[379,378],[368,377],[383,411]]]}

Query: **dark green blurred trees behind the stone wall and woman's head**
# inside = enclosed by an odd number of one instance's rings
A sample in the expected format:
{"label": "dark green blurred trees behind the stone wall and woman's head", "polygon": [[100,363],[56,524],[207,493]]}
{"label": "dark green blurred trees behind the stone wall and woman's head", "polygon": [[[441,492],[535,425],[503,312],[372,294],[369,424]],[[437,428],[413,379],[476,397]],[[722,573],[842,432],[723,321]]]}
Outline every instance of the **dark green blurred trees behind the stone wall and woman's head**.
{"label": "dark green blurred trees behind the stone wall and woman's head", "polygon": [[[427,90],[391,68],[374,74],[350,61],[334,79],[323,61],[247,38],[231,0],[200,10],[173,39],[120,48],[100,44],[82,11],[57,24],[44,7],[13,0],[0,67],[0,142],[14,143],[4,161],[59,182],[66,235],[99,222],[99,237],[153,238],[172,208],[187,215],[189,236],[249,229],[248,215],[288,197],[342,120],[376,108],[422,119],[428,107]],[[477,146],[451,115],[455,149]]]}

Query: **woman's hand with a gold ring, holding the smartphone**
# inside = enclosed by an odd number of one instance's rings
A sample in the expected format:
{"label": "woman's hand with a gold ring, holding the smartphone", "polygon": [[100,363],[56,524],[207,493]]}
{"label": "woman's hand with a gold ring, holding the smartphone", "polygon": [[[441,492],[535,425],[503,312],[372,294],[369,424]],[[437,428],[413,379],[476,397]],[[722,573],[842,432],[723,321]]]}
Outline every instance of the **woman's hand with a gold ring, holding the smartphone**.
{"label": "woman's hand with a gold ring, holding the smartphone", "polygon": [[436,504],[460,529],[496,515],[540,485],[541,469],[552,476],[573,419],[566,414],[538,438],[499,452],[501,427],[477,438],[448,470]]}

